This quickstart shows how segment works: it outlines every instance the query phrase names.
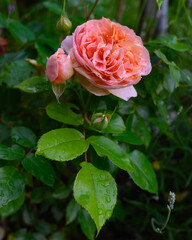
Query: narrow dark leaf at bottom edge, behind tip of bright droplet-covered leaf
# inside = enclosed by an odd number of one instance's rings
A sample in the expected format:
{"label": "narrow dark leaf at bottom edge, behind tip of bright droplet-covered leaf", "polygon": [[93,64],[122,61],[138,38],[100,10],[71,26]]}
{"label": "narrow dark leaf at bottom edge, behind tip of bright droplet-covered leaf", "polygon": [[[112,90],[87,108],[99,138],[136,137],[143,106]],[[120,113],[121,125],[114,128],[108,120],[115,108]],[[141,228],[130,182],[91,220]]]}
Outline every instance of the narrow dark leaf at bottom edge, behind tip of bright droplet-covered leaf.
{"label": "narrow dark leaf at bottom edge, behind tip of bright droplet-covered leaf", "polygon": [[95,232],[96,232],[96,226],[93,222],[92,218],[90,217],[89,213],[82,209],[79,214],[78,221],[81,226],[82,232],[85,234],[85,236],[89,240],[95,239]]}

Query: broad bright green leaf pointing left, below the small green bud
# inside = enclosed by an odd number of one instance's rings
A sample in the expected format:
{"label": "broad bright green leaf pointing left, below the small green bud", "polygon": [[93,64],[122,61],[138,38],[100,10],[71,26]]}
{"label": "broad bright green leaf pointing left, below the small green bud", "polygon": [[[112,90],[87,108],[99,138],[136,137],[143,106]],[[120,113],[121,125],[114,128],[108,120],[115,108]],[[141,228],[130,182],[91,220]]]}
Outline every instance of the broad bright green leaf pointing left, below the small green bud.
{"label": "broad bright green leaf pointing left, below the small green bud", "polygon": [[87,151],[89,143],[73,128],[45,133],[38,141],[37,154],[56,161],[72,160]]}

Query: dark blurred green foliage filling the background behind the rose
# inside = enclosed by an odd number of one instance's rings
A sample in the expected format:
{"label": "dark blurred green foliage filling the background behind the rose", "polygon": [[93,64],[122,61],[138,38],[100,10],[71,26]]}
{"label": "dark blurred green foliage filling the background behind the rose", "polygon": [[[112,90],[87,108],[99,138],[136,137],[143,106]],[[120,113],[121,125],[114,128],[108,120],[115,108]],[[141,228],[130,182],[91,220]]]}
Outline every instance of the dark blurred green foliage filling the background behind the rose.
{"label": "dark blurred green foliage filling the background behind the rose", "polygon": [[[66,1],[72,32],[85,22],[84,4],[90,11],[94,2]],[[167,8],[162,10],[162,6],[159,11],[153,0],[99,0],[91,15],[132,28],[150,51],[153,70],[136,85],[138,97],[124,102],[113,96],[91,96],[88,117],[117,107],[110,136],[127,152],[142,151],[152,163],[159,184],[158,197],[144,192],[126,172],[90,149],[89,161],[110,171],[118,185],[118,204],[98,236],[101,240],[192,239],[192,2],[166,2]],[[23,160],[24,154],[33,159],[36,139],[43,133],[63,126],[46,115],[45,107],[55,97],[44,76],[47,57],[63,39],[56,29],[62,5],[60,0],[0,2],[0,144],[8,146],[10,154],[8,160],[0,155],[0,172],[6,169],[7,174],[0,177],[1,198],[7,194],[3,185],[6,177],[14,175],[13,187],[22,188],[22,194],[18,190],[18,196],[0,208],[0,239],[78,240],[85,239],[84,234],[94,239],[95,225],[72,195],[82,157],[67,164],[48,165],[41,158],[39,172],[33,172]],[[78,88],[75,81],[68,81],[61,101],[73,102],[81,109],[75,93]],[[88,98],[86,91],[83,97]],[[87,134],[91,135],[91,130]],[[15,148],[18,157],[10,161]],[[20,175],[22,181],[18,182]],[[51,182],[47,175],[52,176]],[[155,217],[164,223],[169,191],[176,193],[176,204],[165,233],[159,235],[150,220]]]}

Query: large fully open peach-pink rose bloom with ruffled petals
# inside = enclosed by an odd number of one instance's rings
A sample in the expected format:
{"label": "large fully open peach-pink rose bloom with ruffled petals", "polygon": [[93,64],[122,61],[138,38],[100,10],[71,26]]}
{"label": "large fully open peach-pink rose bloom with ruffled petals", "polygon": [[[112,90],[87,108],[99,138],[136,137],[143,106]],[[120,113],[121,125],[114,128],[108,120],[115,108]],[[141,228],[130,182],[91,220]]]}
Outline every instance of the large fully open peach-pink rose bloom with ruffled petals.
{"label": "large fully open peach-pink rose bloom with ruffled petals", "polygon": [[133,85],[151,71],[150,57],[133,30],[109,19],[90,20],[63,40],[76,75],[95,95],[136,97]]}

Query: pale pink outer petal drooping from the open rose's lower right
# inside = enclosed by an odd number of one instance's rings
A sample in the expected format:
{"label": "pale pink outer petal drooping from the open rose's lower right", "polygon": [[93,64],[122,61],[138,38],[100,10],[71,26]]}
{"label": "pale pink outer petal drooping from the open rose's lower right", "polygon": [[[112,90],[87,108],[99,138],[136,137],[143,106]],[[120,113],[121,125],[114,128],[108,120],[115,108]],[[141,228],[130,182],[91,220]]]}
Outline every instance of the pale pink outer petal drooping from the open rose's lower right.
{"label": "pale pink outer petal drooping from the open rose's lower right", "polygon": [[108,91],[125,101],[128,101],[131,97],[137,97],[137,92],[133,86],[119,89],[108,89]]}

